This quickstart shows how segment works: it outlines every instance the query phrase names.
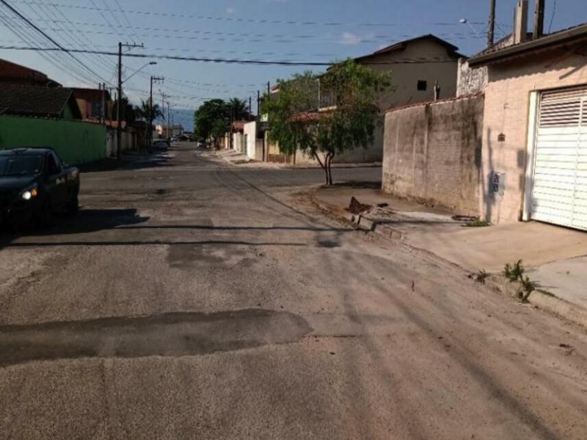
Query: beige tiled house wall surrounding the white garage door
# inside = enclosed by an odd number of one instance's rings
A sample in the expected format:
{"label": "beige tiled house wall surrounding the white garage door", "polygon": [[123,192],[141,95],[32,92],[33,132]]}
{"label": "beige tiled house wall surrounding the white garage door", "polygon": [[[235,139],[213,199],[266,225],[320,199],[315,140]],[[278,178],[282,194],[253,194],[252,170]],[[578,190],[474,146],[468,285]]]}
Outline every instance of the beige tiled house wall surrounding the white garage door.
{"label": "beige tiled house wall surrounding the white garage door", "polygon": [[[567,51],[489,66],[479,209],[490,222],[515,222],[522,216],[530,92],[584,84],[586,58]],[[505,141],[499,142],[502,134]],[[492,171],[505,172],[503,196],[488,192]]]}

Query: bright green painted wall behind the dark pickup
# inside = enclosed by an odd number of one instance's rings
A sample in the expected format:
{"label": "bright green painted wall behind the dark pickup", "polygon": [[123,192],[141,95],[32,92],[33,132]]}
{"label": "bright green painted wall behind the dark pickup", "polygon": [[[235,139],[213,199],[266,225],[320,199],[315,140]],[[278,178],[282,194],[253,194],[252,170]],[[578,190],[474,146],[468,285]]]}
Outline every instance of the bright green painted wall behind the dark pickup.
{"label": "bright green painted wall behind the dark pickup", "polygon": [[0,149],[50,146],[66,164],[103,159],[106,129],[90,122],[0,116]]}

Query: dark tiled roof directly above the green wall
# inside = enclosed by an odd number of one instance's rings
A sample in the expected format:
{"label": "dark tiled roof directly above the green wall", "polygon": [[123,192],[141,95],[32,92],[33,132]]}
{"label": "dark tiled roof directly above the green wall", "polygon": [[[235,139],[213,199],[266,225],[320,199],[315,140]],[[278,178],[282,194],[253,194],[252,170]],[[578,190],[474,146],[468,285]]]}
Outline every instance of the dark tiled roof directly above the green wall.
{"label": "dark tiled roof directly above the green wall", "polygon": [[[66,88],[16,86],[0,83],[0,114],[60,117],[67,103],[72,99],[72,94],[72,90]],[[74,117],[81,118],[77,103],[72,105],[72,109]]]}

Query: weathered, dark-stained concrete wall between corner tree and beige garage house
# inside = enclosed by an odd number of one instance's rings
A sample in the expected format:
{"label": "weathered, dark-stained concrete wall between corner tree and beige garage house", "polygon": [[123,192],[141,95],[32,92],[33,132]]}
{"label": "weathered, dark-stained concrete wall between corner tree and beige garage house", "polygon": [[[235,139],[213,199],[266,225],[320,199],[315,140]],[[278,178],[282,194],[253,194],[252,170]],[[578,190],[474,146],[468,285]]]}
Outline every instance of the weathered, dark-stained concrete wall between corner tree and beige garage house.
{"label": "weathered, dark-stained concrete wall between corner tree and beige garage house", "polygon": [[483,111],[477,95],[388,112],[383,190],[479,215]]}

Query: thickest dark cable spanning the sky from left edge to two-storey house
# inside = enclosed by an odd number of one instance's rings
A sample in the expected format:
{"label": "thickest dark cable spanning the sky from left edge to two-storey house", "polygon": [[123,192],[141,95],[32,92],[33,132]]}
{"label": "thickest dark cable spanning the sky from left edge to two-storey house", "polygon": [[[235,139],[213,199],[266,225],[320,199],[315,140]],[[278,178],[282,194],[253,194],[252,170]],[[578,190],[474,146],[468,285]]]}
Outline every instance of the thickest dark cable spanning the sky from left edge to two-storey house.
{"label": "thickest dark cable spanning the sky from left edge to two-storey house", "polygon": [[[0,0],[3,1],[3,0]],[[83,49],[65,49],[60,48],[47,48],[47,47],[17,47],[17,46],[0,46],[0,49],[7,50],[20,50],[20,51],[45,51],[45,52],[59,52],[64,51],[66,53],[93,53],[95,55],[108,55],[118,56],[116,52],[109,51],[88,51]],[[256,66],[332,66],[332,62],[311,62],[311,61],[270,61],[270,60],[241,60],[238,58],[203,58],[203,57],[180,57],[174,55],[157,55],[157,54],[146,54],[146,53],[124,53],[125,57],[133,58],[154,58],[159,60],[175,60],[175,61],[193,61],[193,62],[205,62],[205,63],[216,63],[216,64],[251,64]],[[408,60],[404,61],[386,61],[386,62],[362,62],[370,66],[388,66],[393,64],[447,64],[455,63],[455,60]]]}

